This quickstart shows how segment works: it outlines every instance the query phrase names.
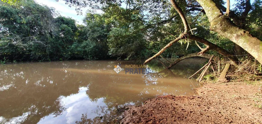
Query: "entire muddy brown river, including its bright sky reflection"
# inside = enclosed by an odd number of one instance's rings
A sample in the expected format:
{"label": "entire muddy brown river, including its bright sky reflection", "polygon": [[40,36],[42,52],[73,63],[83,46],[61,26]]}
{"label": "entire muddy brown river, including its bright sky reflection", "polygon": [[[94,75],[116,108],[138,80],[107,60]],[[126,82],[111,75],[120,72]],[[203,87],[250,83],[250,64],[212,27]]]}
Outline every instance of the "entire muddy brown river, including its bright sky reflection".
{"label": "entire muddy brown river, including its bright sky reflection", "polygon": [[130,65],[139,64],[116,60],[0,65],[0,123],[106,123],[120,108],[149,98],[194,95],[199,85],[188,77],[205,61],[186,59],[171,71],[151,62],[145,73],[130,73]]}

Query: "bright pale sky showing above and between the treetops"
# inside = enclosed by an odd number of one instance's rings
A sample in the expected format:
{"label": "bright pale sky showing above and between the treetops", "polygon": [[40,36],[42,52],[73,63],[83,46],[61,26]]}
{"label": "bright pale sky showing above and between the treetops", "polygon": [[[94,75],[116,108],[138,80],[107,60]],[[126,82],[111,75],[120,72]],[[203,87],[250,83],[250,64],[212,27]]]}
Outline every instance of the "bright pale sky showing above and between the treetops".
{"label": "bright pale sky showing above and between the treetops", "polygon": [[[39,4],[47,5],[49,7],[53,7],[60,13],[61,16],[65,17],[71,17],[74,20],[76,20],[76,23],[83,24],[82,19],[84,18],[84,14],[89,8],[82,8],[83,15],[77,15],[77,12],[75,11],[75,7],[69,7],[65,4],[63,0],[60,0],[59,2],[56,2],[55,0],[35,0]],[[251,0],[251,4],[254,2],[254,0]],[[235,3],[235,0],[230,0],[230,5],[232,8],[232,5]],[[98,11],[98,13],[101,13],[101,11]]]}

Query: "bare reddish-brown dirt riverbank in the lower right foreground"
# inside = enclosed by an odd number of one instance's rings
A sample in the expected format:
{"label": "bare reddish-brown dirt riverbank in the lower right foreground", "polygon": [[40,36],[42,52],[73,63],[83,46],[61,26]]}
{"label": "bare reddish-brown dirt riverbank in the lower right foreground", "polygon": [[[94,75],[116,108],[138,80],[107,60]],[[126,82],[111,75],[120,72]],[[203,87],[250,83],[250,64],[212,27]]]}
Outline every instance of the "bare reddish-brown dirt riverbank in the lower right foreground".
{"label": "bare reddish-brown dirt riverbank in the lower right foreground", "polygon": [[122,123],[262,123],[261,84],[205,84],[198,95],[148,99],[126,110]]}

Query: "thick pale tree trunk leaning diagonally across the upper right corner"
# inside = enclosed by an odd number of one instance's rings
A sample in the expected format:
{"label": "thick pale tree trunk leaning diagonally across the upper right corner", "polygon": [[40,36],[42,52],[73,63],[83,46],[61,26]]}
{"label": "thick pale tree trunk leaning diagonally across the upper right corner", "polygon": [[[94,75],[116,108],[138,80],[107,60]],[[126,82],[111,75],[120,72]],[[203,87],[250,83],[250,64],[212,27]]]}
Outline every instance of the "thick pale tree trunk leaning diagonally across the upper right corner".
{"label": "thick pale tree trunk leaning diagonally across the upper right corner", "polygon": [[206,12],[210,29],[236,43],[262,64],[262,41],[236,26],[216,6],[213,0],[196,0]]}

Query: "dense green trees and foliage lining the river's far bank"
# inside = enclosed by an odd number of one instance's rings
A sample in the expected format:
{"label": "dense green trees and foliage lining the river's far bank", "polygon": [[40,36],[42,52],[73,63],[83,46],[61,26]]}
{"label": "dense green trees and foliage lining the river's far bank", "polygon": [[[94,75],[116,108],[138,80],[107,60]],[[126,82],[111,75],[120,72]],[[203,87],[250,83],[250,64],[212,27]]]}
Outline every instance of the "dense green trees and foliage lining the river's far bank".
{"label": "dense green trees and foliage lining the river's far bank", "polygon": [[[90,1],[93,4],[89,6],[101,9],[103,14],[87,12],[83,19],[85,25],[77,25],[72,18],[61,17],[54,8],[39,5],[33,0],[16,2],[15,6],[2,2],[0,60],[99,60],[114,57],[143,61],[175,39],[183,30],[182,20],[169,1],[143,0],[144,4],[135,1],[103,2]],[[224,4],[221,0],[215,2],[218,5]],[[241,16],[245,8],[241,2],[234,8],[238,16]],[[262,37],[261,3],[261,0],[255,0],[245,23],[246,28],[258,38]],[[74,5],[72,2],[71,4]],[[198,11],[186,11],[186,4],[197,3],[179,2],[187,20],[192,23],[191,29],[197,29],[192,32],[234,53],[235,44],[210,31],[206,15],[201,13],[198,17]],[[123,5],[126,8],[122,8]],[[87,4],[79,3],[76,6],[86,7]],[[202,48],[205,47],[204,44],[199,44]],[[174,59],[199,51],[201,50],[195,45],[195,41],[183,39],[168,48],[162,56]],[[209,52],[218,55],[216,51]]]}

